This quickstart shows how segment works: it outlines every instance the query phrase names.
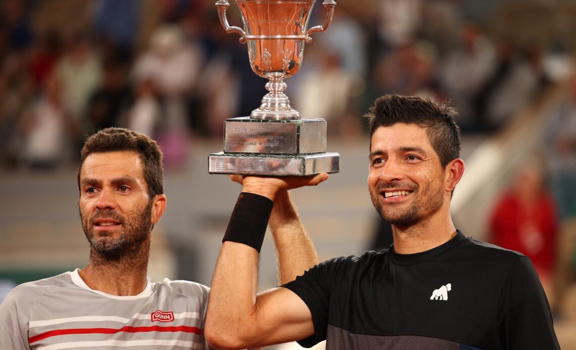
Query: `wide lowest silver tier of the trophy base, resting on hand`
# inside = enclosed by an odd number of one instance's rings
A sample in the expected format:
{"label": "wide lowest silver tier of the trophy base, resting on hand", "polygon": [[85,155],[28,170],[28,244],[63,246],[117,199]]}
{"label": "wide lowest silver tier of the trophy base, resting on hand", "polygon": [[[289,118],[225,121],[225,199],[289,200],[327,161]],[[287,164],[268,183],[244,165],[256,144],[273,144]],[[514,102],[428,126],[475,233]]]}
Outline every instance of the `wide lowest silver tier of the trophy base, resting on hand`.
{"label": "wide lowest silver tier of the trophy base, resting on hand", "polygon": [[308,176],[321,172],[339,172],[338,153],[305,155],[211,153],[208,157],[210,174],[242,174],[270,176]]}

